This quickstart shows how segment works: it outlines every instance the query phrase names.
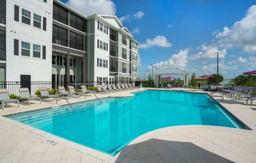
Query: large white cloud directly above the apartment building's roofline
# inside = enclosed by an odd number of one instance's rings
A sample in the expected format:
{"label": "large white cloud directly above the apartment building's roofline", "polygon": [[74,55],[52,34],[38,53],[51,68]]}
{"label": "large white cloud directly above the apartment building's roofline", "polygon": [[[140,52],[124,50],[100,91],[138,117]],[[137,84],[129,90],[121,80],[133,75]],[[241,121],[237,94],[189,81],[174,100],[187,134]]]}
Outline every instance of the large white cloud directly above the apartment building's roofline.
{"label": "large white cloud directly above the apartment building's roofline", "polygon": [[68,0],[66,3],[86,16],[91,14],[115,15],[115,4],[111,0]]}

